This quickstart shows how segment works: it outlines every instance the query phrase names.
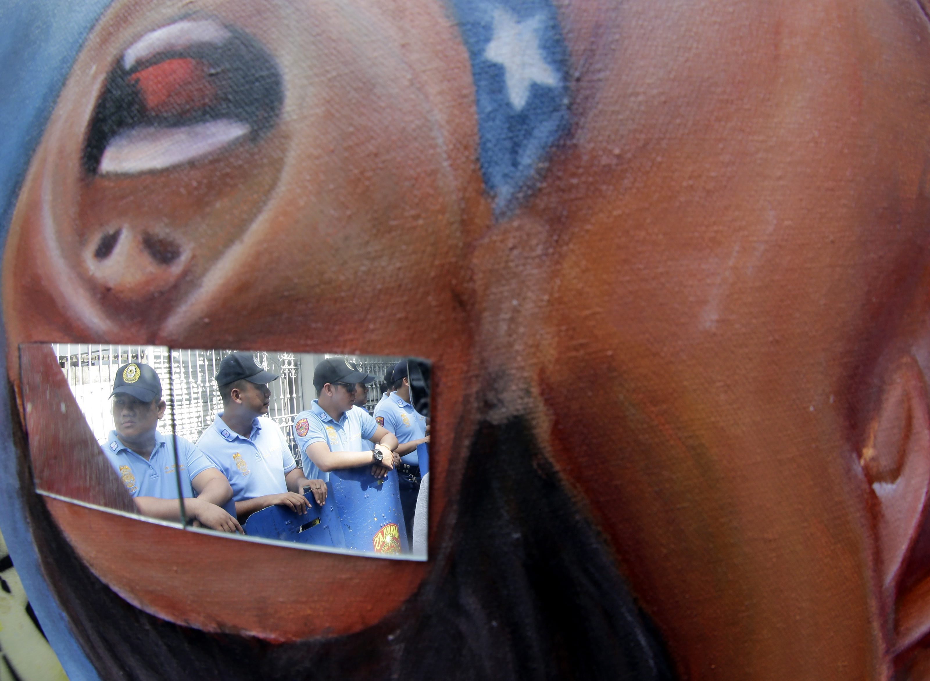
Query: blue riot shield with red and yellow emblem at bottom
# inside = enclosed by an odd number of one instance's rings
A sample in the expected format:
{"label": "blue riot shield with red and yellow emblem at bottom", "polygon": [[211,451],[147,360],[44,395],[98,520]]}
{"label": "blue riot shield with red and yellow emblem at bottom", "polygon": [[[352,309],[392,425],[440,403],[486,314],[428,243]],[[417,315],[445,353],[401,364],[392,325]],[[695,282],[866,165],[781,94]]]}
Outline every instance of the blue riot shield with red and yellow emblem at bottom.
{"label": "blue riot shield with red and yellow emblem at bottom", "polygon": [[375,478],[368,465],[329,474],[331,496],[342,523],[346,548],[376,554],[408,553],[397,472]]}

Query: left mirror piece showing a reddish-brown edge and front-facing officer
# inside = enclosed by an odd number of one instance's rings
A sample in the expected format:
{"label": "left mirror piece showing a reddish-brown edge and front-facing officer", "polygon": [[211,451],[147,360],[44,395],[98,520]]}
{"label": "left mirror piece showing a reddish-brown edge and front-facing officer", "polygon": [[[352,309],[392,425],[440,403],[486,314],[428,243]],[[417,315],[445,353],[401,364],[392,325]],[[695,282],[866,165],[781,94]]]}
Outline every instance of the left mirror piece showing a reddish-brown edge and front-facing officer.
{"label": "left mirror piece showing a reddish-brown edge and front-facing officer", "polygon": [[159,346],[20,347],[38,491],[181,522],[173,413],[160,378],[168,357]]}

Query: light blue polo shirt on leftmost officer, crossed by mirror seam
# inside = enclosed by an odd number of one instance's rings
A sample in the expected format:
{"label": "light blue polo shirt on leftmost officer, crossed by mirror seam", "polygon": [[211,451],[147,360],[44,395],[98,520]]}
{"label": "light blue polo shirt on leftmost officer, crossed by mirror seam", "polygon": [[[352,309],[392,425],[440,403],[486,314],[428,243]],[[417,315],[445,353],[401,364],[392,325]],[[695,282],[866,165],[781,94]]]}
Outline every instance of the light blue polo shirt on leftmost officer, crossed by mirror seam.
{"label": "light blue polo shirt on leftmost officer, crossed by mirror seam", "polygon": [[[111,430],[107,443],[103,445],[103,452],[132,496],[177,499],[178,477],[175,475],[174,442],[175,438],[166,438],[156,430],[155,446],[149,460],[146,461],[126,447],[116,436],[116,431]],[[191,480],[214,465],[190,440],[178,436],[177,443],[181,491],[185,497],[193,497],[196,494]]]}

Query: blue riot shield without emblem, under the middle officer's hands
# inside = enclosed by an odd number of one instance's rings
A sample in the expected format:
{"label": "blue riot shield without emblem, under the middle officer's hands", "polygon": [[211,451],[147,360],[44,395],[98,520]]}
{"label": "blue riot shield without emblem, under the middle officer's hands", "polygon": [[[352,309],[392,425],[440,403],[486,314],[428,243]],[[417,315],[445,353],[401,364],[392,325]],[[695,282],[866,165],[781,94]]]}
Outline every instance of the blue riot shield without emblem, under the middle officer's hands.
{"label": "blue riot shield without emblem, under the middle officer's hands", "polygon": [[316,503],[312,492],[304,496],[310,502],[306,515],[301,516],[287,506],[269,506],[249,516],[243,530],[250,537],[346,548],[336,504],[332,502],[332,487],[326,485],[323,506]]}

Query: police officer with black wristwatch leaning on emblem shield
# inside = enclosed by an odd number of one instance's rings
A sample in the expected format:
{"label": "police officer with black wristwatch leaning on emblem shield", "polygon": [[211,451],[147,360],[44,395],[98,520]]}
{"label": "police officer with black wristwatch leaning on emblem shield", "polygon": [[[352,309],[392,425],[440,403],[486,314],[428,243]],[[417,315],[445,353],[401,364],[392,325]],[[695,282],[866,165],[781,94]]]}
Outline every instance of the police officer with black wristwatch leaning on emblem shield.
{"label": "police officer with black wristwatch leaning on emblem shield", "polygon": [[[329,471],[372,465],[372,474],[384,477],[400,459],[393,450],[397,439],[379,426],[364,409],[355,407],[358,383],[373,376],[360,371],[345,357],[330,357],[313,370],[317,399],[294,420],[300,459],[308,475],[329,479]],[[364,440],[376,444],[367,449]]]}

